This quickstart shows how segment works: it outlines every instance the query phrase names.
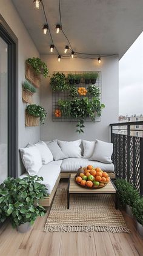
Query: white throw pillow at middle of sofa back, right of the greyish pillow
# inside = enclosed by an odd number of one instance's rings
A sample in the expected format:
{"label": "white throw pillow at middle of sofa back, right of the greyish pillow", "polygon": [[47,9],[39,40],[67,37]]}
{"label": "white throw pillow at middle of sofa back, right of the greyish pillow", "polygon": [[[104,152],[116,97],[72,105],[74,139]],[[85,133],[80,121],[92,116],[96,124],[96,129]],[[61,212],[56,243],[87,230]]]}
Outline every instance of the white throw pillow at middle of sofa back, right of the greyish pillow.
{"label": "white throw pillow at middle of sofa back, right of the greyish pillow", "polygon": [[62,152],[65,154],[65,156],[70,158],[79,158],[81,156],[81,140],[75,140],[75,141],[61,141],[58,140],[59,147],[61,147]]}

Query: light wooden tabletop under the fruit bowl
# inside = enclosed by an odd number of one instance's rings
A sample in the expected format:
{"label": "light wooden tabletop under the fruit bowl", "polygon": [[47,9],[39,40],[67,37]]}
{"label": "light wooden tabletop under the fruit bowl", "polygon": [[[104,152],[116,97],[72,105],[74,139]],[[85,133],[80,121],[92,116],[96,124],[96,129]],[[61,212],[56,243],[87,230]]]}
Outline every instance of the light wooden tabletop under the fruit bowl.
{"label": "light wooden tabletop under the fruit bowl", "polygon": [[102,187],[101,189],[84,189],[84,187],[81,187],[80,185],[76,184],[75,182],[75,174],[70,175],[70,185],[69,185],[69,193],[111,193],[115,194],[116,189],[111,183],[111,181],[108,182],[105,187]]}

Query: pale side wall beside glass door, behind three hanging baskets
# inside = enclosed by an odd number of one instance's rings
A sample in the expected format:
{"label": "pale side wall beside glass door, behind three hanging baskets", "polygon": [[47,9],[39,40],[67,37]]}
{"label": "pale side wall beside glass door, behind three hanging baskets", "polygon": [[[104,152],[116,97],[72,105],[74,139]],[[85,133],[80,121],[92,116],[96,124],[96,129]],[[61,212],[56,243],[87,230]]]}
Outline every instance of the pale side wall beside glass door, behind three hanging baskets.
{"label": "pale side wall beside glass door, behind three hanging baskets", "polygon": [[[1,15],[8,23],[18,38],[18,81],[19,81],[19,148],[25,147],[28,142],[37,142],[39,139],[39,127],[25,127],[25,108],[26,105],[22,102],[22,81],[25,80],[25,60],[29,57],[39,57],[38,50],[35,47],[30,35],[18,12],[16,11],[12,1],[0,1]],[[36,90],[34,102],[39,103],[39,89]],[[19,173],[22,172],[21,159],[19,159]]]}

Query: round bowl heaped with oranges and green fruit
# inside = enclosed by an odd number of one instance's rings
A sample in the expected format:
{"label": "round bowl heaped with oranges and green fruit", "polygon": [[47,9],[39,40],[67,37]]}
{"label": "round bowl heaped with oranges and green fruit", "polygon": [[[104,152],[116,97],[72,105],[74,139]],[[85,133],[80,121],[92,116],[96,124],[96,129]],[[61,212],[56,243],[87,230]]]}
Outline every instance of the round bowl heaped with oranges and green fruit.
{"label": "round bowl heaped with oranges and green fruit", "polygon": [[75,182],[85,189],[101,189],[110,181],[108,173],[102,171],[100,167],[94,168],[88,165],[84,168],[79,168],[75,176]]}

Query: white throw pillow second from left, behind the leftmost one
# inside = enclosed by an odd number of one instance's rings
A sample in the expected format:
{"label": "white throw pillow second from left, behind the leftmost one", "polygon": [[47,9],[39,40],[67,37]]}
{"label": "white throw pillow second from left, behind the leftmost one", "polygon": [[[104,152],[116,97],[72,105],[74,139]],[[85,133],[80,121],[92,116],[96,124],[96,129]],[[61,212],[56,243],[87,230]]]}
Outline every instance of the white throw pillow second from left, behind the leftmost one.
{"label": "white throw pillow second from left, behind the leftmost one", "polygon": [[41,154],[42,164],[48,164],[53,161],[53,155],[44,141],[39,141],[35,144]]}

